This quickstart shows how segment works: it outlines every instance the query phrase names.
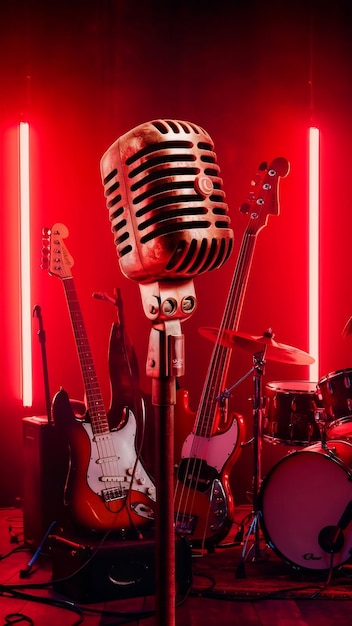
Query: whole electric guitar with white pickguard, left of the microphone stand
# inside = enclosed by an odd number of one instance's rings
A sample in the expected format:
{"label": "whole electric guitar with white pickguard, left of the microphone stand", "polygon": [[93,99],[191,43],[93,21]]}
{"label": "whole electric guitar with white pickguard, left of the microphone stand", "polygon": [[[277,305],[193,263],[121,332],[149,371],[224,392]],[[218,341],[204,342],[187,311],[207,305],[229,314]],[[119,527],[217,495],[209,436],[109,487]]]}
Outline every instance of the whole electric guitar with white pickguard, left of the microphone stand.
{"label": "whole electric guitar with white pickguard, left of the microphone stand", "polygon": [[61,278],[65,288],[88,408],[86,418],[78,420],[66,391],[61,389],[53,400],[55,427],[64,432],[69,447],[69,506],[82,527],[128,532],[152,523],[156,489],[136,452],[133,412],[126,409],[121,428],[109,428],[71,273],[73,258],[63,241],[68,234],[63,224],[44,232],[42,266]]}

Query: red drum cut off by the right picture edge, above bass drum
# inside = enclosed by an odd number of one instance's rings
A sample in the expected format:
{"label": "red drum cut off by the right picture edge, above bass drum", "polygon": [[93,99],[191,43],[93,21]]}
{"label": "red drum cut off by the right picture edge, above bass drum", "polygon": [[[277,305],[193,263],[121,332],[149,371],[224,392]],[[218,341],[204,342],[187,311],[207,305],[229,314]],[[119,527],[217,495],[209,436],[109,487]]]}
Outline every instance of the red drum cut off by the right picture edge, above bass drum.
{"label": "red drum cut off by the right picture edge, above bass drum", "polygon": [[331,372],[318,382],[326,411],[328,437],[352,436],[352,369]]}

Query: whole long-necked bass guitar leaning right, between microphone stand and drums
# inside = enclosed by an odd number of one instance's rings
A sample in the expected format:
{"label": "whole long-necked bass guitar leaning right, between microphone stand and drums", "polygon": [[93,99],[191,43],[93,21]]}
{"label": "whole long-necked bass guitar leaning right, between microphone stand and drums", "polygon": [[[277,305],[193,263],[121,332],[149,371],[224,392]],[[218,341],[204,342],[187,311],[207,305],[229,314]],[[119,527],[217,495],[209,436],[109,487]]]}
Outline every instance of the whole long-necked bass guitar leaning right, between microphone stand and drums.
{"label": "whole long-necked bass guitar leaning right, between microphone stand and drums", "polygon": [[[219,337],[225,329],[238,329],[257,235],[266,226],[269,215],[279,214],[279,179],[288,172],[289,164],[284,158],[275,159],[269,167],[263,163],[252,182],[248,201],[240,208],[250,217]],[[215,343],[196,416],[189,408],[187,390],[177,391],[175,424],[189,423],[191,418],[195,421],[192,432],[183,441],[177,466],[175,529],[176,533],[202,547],[212,546],[223,539],[234,518],[229,475],[240,454],[245,428],[239,414],[234,413],[228,419],[228,400],[221,399],[230,357],[230,348]],[[223,427],[220,430],[221,422]],[[177,458],[180,457],[176,456],[175,450],[175,460]]]}

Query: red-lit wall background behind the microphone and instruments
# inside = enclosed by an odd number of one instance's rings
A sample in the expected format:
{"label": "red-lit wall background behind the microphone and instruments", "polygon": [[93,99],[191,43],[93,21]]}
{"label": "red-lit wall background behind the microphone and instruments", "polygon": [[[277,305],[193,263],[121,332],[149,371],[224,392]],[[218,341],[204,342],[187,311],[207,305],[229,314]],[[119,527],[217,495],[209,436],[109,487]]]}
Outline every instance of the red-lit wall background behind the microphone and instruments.
{"label": "red-lit wall background behind the microphone and instruments", "polygon": [[[33,305],[42,308],[51,393],[60,386],[82,398],[83,386],[60,281],[40,269],[41,229],[65,223],[73,275],[106,404],[107,349],[113,307],[93,291],[122,290],[126,324],[142,384],[150,323],[138,285],[119,270],[99,173],[117,137],[158,117],[184,119],[212,136],[221,167],[235,252],[195,281],[198,309],[186,321],[186,373],[195,409],[212,346],[199,336],[221,320],[247,219],[239,213],[259,163],[277,156],[291,164],[281,182],[281,213],[259,234],[240,330],[308,347],[307,139],[321,129],[320,376],[352,366],[352,338],[341,331],[352,314],[350,269],[350,145],[352,15],[346,0],[270,3],[188,0],[36,0],[0,8],[1,408],[0,500],[22,494],[22,426],[45,413],[37,320],[33,320],[34,403],[20,402],[17,126],[31,125]],[[310,84],[311,83],[311,84]],[[251,367],[234,353],[229,384]],[[268,362],[265,381],[304,380],[303,366]],[[249,378],[231,403],[251,434]],[[191,425],[190,425],[191,426]],[[177,428],[177,425],[176,425]],[[270,451],[269,451],[270,455]],[[233,473],[237,500],[251,483],[251,451]]]}

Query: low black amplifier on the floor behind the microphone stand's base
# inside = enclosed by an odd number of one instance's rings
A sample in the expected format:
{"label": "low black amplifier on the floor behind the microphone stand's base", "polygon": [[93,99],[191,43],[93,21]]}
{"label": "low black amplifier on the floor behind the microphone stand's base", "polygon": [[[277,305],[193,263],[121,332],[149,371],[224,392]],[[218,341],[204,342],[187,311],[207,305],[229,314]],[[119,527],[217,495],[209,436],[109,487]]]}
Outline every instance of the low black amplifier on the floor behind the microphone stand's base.
{"label": "low black amplifier on the floor behind the microphone stand's base", "polygon": [[[82,603],[105,602],[155,594],[155,540],[85,544],[78,539],[49,537],[55,591]],[[176,592],[185,595],[192,583],[189,543],[176,539]]]}

